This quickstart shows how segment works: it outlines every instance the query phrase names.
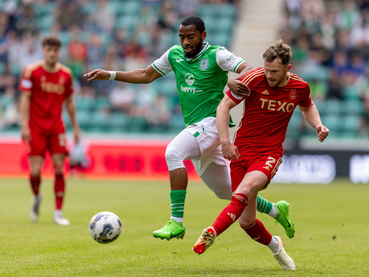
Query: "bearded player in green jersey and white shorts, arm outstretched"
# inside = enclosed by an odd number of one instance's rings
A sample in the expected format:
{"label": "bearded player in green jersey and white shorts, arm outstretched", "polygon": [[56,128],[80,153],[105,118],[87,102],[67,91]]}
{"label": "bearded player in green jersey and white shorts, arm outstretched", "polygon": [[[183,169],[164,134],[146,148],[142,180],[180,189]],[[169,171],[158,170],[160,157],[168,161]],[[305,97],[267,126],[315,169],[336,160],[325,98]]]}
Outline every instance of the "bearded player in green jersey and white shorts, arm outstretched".
{"label": "bearded player in green jersey and white shorts, arm outstretched", "polygon": [[[216,128],[217,106],[223,99],[228,71],[245,75],[254,68],[242,58],[221,46],[204,42],[204,21],[198,16],[184,18],[179,25],[181,45],[175,45],[146,69],[134,71],[105,71],[95,69],[84,77],[93,80],[116,80],[127,83],[151,83],[171,71],[176,75],[177,90],[182,107],[185,129],[170,142],[165,158],[169,169],[172,216],[166,225],[153,232],[154,237],[170,240],[183,238],[184,200],[187,171],[184,160],[192,160],[200,178],[221,199],[231,199],[231,182],[227,164],[220,150]],[[232,92],[249,96],[247,86],[236,79],[228,83]],[[235,126],[229,114],[229,126]],[[259,196],[258,211],[276,219],[289,237],[294,235],[294,224],[289,217],[289,204],[276,204]]]}

